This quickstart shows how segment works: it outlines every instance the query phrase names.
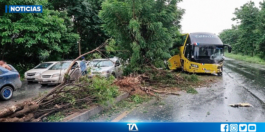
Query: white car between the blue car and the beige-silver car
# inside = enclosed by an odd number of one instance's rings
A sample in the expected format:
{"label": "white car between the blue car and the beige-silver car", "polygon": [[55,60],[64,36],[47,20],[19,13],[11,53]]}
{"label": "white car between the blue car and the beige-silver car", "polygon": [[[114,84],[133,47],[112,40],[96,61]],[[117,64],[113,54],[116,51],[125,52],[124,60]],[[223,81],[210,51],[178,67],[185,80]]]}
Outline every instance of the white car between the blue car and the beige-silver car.
{"label": "white car between the blue car and the beige-silver car", "polygon": [[55,63],[58,61],[52,61],[52,62],[44,62],[36,67],[34,67],[31,70],[28,70],[27,72],[24,73],[24,78],[26,81],[34,82],[37,81],[37,77],[44,71],[48,70],[50,67],[52,67]]}

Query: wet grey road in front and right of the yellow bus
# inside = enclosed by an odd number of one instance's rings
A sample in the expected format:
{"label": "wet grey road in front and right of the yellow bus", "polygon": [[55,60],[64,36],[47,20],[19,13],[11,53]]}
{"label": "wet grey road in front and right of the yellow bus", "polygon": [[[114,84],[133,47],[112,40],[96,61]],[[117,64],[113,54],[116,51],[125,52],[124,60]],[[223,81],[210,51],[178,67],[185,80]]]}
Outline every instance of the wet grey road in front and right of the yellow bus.
{"label": "wet grey road in front and right of the yellow bus", "polygon": [[[120,121],[264,122],[265,66],[226,58],[223,77],[198,94],[168,95],[162,102],[145,103]],[[253,107],[231,107],[247,102]]]}

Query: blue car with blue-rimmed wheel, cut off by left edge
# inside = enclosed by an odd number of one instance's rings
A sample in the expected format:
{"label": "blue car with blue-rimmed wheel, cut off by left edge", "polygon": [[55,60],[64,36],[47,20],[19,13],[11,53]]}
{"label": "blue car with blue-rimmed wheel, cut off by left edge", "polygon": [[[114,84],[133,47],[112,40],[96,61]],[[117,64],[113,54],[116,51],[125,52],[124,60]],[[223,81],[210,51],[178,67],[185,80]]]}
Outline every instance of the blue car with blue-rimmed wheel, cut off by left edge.
{"label": "blue car with blue-rimmed wheel, cut off by left edge", "polygon": [[21,87],[20,75],[18,71],[11,67],[11,71],[0,66],[0,99],[9,100],[13,96],[13,91]]}

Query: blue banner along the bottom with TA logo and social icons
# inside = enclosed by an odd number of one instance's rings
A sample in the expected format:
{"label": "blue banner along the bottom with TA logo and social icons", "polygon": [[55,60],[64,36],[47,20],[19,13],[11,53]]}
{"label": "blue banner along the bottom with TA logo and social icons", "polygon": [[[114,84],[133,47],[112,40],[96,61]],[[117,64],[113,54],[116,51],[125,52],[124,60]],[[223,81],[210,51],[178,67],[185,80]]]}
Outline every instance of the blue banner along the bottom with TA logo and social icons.
{"label": "blue banner along the bottom with TA logo and social icons", "polygon": [[265,123],[6,122],[0,123],[0,128],[3,132],[264,132]]}

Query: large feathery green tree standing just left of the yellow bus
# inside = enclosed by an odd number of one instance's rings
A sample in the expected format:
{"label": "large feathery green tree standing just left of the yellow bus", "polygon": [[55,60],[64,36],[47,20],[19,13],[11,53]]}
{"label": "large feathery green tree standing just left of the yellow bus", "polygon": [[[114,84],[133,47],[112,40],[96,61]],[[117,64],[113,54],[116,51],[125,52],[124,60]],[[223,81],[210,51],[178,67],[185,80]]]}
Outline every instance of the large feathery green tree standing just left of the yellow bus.
{"label": "large feathery green tree standing just left of the yellow bus", "polygon": [[139,71],[146,60],[161,67],[170,48],[179,42],[180,0],[106,0],[99,13],[102,27],[113,37],[111,49],[130,59],[127,67]]}

